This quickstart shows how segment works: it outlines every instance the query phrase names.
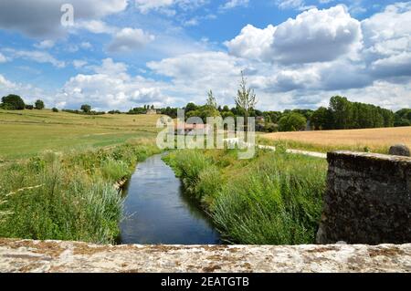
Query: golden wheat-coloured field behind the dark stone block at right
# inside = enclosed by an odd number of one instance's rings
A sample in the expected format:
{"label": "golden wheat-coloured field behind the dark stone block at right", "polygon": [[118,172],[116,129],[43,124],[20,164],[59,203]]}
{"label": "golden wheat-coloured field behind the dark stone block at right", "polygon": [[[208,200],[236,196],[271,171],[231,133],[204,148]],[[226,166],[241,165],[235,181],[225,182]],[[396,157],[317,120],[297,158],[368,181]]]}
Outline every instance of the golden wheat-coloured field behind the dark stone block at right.
{"label": "golden wheat-coloured field behind the dark stone block at right", "polygon": [[265,143],[281,142],[287,148],[308,151],[374,151],[387,153],[398,143],[411,148],[411,127],[369,130],[276,132],[260,135]]}

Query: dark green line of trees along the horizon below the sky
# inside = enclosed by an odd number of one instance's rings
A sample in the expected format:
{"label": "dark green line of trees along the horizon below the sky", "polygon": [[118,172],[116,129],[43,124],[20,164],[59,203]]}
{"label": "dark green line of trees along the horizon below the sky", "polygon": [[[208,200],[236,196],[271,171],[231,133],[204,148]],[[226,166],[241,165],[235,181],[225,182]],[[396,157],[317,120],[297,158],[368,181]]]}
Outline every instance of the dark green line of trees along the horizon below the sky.
{"label": "dark green line of trees along the horizon below the sky", "polygon": [[[218,106],[213,91],[207,93],[205,105],[188,103],[183,109],[185,118],[221,116],[228,117],[255,117],[258,131],[299,131],[299,130],[353,130],[372,129],[387,127],[411,126],[411,109],[400,109],[393,112],[372,104],[352,102],[341,96],[334,96],[330,99],[329,107],[312,109],[287,109],[284,111],[261,111],[256,109],[257,98],[254,90],[248,88],[247,80],[241,76],[237,96],[234,98],[236,106],[229,108]],[[34,105],[25,104],[24,100],[17,95],[8,95],[2,98],[0,109],[21,110],[21,109],[44,109],[45,104],[38,99]],[[162,115],[177,117],[179,108],[166,107],[156,109]],[[153,105],[144,105],[140,108],[130,109],[126,114],[146,114],[149,110],[154,110]],[[53,108],[58,112],[58,109]],[[63,109],[65,112],[102,115],[106,112],[97,112],[91,109],[90,105],[84,104],[80,109]],[[120,110],[111,110],[109,114],[122,114]]]}

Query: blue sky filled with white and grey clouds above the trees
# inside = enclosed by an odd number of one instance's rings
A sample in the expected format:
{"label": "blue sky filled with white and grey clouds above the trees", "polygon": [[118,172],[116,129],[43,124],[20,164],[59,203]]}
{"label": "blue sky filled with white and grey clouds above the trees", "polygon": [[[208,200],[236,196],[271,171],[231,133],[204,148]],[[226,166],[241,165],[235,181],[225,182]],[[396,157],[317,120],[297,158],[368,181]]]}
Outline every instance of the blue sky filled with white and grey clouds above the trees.
{"label": "blue sky filled with white and grey clouds above the trees", "polygon": [[411,108],[411,1],[0,2],[0,97],[128,110],[204,104],[212,89],[232,106],[241,71],[258,109],[335,95]]}

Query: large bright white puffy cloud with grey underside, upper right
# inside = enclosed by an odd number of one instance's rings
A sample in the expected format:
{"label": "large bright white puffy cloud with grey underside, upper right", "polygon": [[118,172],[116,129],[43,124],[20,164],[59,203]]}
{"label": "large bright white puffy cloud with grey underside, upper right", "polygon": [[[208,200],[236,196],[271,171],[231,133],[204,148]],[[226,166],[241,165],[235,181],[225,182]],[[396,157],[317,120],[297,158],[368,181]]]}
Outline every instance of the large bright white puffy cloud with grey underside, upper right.
{"label": "large bright white puffy cloud with grey underside, upper right", "polygon": [[311,9],[279,26],[246,26],[226,43],[231,54],[283,64],[331,61],[360,46],[360,22],[344,6]]}

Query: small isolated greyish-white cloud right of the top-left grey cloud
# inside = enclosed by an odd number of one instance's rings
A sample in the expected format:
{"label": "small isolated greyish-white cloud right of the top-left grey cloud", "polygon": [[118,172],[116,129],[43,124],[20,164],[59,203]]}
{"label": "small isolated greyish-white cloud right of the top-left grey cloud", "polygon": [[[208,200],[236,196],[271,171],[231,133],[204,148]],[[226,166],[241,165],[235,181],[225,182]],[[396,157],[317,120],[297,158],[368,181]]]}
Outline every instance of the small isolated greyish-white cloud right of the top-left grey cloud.
{"label": "small isolated greyish-white cloud right of the top-left grey cloud", "polygon": [[108,49],[110,52],[131,52],[141,49],[154,40],[154,36],[139,28],[126,27],[114,36]]}

